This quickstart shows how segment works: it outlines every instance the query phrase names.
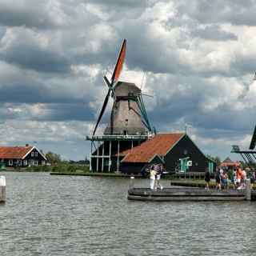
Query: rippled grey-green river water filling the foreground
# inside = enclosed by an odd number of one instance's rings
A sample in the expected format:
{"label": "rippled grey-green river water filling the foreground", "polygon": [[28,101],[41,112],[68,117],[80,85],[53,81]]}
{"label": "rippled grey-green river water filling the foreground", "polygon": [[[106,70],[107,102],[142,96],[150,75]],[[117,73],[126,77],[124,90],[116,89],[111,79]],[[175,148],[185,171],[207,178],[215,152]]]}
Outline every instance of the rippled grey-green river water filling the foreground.
{"label": "rippled grey-green river water filling the foreground", "polygon": [[256,202],[135,202],[125,178],[1,174],[1,256],[256,254]]}

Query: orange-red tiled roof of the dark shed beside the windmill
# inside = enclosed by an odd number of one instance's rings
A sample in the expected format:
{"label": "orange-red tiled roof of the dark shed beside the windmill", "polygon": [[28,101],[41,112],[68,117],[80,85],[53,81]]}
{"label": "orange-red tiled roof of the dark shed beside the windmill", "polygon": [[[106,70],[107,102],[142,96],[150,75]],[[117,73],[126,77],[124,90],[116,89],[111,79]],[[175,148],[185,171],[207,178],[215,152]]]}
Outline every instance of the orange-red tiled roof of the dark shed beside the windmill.
{"label": "orange-red tiled roof of the dark shed beside the windmill", "polygon": [[143,142],[140,146],[123,151],[120,155],[126,155],[122,162],[150,162],[154,155],[164,156],[184,134],[157,134],[153,138]]}

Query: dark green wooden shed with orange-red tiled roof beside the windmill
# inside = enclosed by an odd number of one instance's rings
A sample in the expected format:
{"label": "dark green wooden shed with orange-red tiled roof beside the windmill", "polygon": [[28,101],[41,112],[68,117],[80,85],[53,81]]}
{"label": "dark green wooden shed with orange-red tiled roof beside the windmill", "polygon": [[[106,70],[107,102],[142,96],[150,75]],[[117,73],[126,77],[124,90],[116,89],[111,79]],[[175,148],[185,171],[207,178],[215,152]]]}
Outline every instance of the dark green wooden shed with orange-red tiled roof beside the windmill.
{"label": "dark green wooden shed with orange-red tiled roof beside the windmill", "polygon": [[207,158],[198,146],[184,133],[156,134],[140,146],[120,154],[121,170],[125,173],[138,173],[150,163],[162,162],[169,172],[179,170],[180,159],[188,158],[192,166],[188,171],[205,171],[209,167]]}

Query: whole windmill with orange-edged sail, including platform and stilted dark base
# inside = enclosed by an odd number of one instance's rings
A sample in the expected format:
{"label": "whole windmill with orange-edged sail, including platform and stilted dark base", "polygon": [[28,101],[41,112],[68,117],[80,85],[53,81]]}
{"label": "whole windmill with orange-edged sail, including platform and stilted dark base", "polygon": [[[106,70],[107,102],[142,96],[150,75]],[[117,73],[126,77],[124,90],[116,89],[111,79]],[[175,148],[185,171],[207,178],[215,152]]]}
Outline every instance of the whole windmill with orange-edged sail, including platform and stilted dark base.
{"label": "whole windmill with orange-edged sail, including platform and stilted dark base", "polygon": [[[90,170],[92,171],[119,171],[120,161],[123,158],[121,153],[140,145],[155,133],[146,114],[142,90],[134,83],[119,81],[125,57],[126,39],[122,42],[110,80],[106,75],[103,77],[108,91],[93,133],[91,136],[86,136],[86,140],[91,142]],[[102,135],[97,135],[98,125],[110,98],[113,99],[113,106],[108,125]]]}

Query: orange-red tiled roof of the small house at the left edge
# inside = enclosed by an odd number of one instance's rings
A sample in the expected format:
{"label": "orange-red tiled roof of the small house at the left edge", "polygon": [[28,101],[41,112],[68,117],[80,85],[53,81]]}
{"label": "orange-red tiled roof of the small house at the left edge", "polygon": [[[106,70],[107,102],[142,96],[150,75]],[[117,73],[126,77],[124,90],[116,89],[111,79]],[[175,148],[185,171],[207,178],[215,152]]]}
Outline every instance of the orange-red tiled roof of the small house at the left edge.
{"label": "orange-red tiled roof of the small house at the left edge", "polygon": [[33,146],[0,146],[0,158],[22,159]]}

